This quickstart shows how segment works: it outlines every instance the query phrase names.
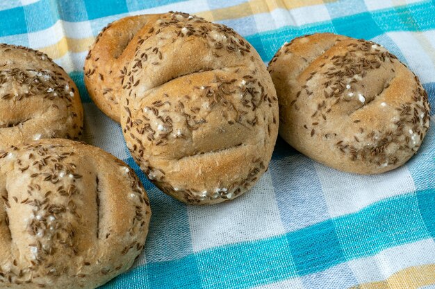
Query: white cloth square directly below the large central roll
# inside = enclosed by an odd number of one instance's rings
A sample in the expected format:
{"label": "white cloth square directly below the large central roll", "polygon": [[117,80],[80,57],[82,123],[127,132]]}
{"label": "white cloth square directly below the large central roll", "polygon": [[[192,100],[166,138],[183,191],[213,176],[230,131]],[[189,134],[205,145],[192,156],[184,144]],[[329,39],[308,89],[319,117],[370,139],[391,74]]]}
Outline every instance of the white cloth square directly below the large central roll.
{"label": "white cloth square directly below the large central roll", "polygon": [[231,202],[188,206],[193,252],[284,234],[270,171]]}

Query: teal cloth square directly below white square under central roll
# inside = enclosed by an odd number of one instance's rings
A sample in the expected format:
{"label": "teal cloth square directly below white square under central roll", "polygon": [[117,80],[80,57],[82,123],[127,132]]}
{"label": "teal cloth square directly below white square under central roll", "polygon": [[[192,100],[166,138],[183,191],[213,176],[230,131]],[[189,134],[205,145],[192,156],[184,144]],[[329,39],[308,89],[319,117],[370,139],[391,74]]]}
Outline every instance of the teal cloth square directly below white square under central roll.
{"label": "teal cloth square directly below white square under central roll", "polygon": [[215,247],[196,257],[202,288],[252,288],[296,277],[286,236]]}

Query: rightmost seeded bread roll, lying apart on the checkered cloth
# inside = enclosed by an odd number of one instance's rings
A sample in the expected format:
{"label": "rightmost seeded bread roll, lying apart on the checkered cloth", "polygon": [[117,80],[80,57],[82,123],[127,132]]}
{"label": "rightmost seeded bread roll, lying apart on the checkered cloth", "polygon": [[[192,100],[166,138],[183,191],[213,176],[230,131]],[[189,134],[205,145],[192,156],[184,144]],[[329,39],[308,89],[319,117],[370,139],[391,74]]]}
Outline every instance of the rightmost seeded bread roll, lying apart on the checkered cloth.
{"label": "rightmost seeded bread roll, lying apart on the checkered cloth", "polygon": [[350,173],[402,166],[429,128],[420,82],[366,40],[320,33],[285,44],[270,61],[279,134],[304,155]]}

